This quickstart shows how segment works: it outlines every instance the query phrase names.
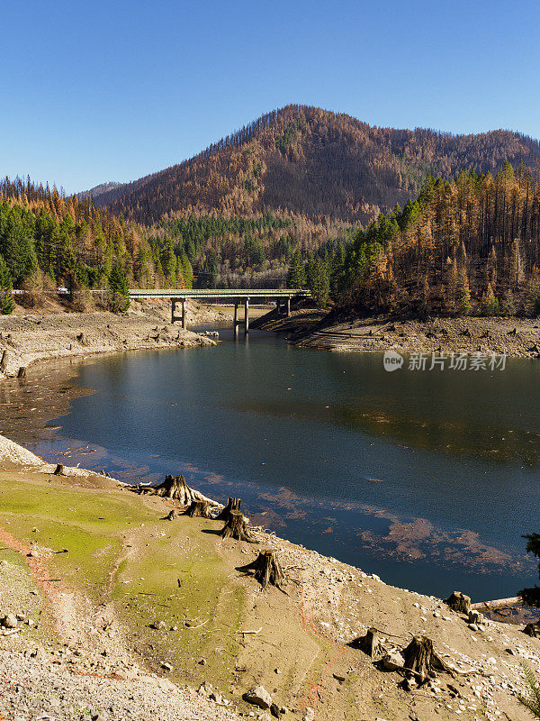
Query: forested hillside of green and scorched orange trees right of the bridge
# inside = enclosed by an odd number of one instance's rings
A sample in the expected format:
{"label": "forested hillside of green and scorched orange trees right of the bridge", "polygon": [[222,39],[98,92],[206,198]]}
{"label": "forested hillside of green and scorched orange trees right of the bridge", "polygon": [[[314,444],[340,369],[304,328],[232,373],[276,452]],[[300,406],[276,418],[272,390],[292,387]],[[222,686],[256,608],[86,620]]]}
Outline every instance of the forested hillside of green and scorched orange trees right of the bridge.
{"label": "forested hillside of green and scorched orange trees right of the bridge", "polygon": [[429,178],[401,211],[349,247],[338,304],[370,313],[540,314],[540,182],[509,163],[496,176]]}

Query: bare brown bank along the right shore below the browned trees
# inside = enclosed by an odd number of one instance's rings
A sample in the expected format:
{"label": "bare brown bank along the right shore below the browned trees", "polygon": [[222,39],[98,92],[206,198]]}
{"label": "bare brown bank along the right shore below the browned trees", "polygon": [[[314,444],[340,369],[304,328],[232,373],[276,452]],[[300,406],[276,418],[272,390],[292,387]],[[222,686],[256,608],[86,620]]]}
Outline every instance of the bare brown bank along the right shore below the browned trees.
{"label": "bare brown bank along the right shore below the browned trees", "polygon": [[290,342],[321,351],[540,357],[538,319],[465,317],[419,321],[377,316],[336,321],[320,310],[300,310],[290,318],[269,314],[257,327],[287,333]]}

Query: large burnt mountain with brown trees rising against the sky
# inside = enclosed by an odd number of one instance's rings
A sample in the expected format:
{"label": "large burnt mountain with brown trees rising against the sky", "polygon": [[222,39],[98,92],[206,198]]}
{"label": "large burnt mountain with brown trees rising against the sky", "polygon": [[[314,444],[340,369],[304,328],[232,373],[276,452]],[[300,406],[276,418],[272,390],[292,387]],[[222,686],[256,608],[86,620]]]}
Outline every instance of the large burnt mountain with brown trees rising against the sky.
{"label": "large burnt mountain with brown trees rising against the sky", "polygon": [[534,166],[540,144],[518,132],[396,130],[347,114],[287,105],[171,168],[93,193],[142,224],[185,214],[302,214],[368,224],[419,193],[428,175]]}

